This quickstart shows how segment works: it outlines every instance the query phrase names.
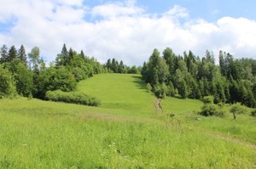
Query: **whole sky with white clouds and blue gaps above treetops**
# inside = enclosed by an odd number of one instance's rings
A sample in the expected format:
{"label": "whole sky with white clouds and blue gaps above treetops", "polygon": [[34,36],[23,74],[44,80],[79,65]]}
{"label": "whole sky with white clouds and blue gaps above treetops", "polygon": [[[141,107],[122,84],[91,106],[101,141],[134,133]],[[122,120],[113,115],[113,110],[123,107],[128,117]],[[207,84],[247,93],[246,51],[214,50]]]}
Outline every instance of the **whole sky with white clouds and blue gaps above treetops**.
{"label": "whole sky with white clouds and blue gaps above treetops", "polygon": [[0,0],[0,45],[39,47],[55,60],[63,43],[105,63],[143,65],[154,48],[256,59],[254,0]]}

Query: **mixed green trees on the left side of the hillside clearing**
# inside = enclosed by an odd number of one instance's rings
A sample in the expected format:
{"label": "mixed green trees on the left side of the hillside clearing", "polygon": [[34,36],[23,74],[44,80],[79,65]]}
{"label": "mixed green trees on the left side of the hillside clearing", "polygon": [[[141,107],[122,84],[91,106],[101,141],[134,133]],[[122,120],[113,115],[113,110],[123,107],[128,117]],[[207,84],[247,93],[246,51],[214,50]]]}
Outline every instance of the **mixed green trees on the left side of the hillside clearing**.
{"label": "mixed green trees on the left side of the hillside clearing", "polygon": [[[120,73],[131,73],[131,68],[124,65],[123,62],[120,63],[124,67]],[[0,48],[0,98],[12,98],[20,95],[49,99],[46,97],[48,91],[61,90],[71,93],[76,89],[77,82],[96,74],[115,72],[111,69],[108,67],[108,63],[100,64],[95,58],[86,56],[83,50],[78,53],[73,48],[67,49],[66,44],[63,45],[61,53],[57,54],[55,62],[51,62],[49,65],[40,56],[38,47],[32,48],[31,52],[26,54],[23,45],[16,49],[15,46],[8,48],[3,44]],[[57,93],[61,98],[62,93]],[[77,95],[72,95],[70,98],[75,98],[73,100],[84,98],[78,103],[90,104],[90,102],[86,102],[90,97],[85,95],[77,97]]]}

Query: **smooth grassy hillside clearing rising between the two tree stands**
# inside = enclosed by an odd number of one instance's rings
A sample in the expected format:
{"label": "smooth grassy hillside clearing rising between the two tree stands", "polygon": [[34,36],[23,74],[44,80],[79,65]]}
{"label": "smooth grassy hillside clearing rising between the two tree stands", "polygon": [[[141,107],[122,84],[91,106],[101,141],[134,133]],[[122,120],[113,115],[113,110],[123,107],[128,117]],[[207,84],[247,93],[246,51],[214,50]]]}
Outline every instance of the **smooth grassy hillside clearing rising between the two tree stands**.
{"label": "smooth grassy hillside clearing rising between the two tree stands", "polygon": [[149,115],[154,112],[154,96],[145,89],[141,76],[102,74],[79,83],[79,91],[102,100],[102,108],[118,114]]}

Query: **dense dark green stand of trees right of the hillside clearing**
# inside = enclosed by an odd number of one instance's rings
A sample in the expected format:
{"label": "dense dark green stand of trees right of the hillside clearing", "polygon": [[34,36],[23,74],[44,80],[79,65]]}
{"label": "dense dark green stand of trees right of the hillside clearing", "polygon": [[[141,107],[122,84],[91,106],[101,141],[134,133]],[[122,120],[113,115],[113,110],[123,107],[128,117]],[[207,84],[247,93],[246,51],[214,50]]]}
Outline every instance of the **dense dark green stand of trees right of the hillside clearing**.
{"label": "dense dark green stand of trees right of the hillside clearing", "polygon": [[157,49],[144,62],[143,80],[157,97],[179,96],[183,99],[202,99],[213,96],[214,103],[240,102],[256,106],[256,60],[234,59],[231,54],[219,51],[219,63],[207,50],[204,57],[174,54],[166,48],[162,55]]}

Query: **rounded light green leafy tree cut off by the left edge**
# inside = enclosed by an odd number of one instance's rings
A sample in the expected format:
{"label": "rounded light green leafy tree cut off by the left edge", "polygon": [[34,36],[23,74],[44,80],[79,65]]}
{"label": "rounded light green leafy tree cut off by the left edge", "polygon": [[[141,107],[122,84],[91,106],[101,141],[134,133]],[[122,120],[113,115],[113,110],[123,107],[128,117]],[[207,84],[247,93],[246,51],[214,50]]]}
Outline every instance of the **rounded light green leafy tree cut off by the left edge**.
{"label": "rounded light green leafy tree cut off by the left edge", "polygon": [[0,65],[0,99],[13,98],[16,95],[15,79],[9,70]]}

